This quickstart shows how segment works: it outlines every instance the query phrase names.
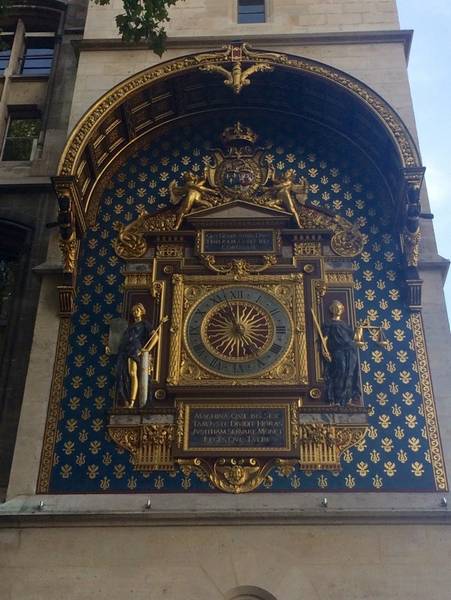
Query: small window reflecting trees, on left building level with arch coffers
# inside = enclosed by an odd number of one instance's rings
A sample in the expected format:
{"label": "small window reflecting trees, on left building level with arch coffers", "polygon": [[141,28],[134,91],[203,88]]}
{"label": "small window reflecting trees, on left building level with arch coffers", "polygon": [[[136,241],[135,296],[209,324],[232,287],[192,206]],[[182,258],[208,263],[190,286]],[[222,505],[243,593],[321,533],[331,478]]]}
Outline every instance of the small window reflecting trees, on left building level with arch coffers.
{"label": "small window reflecting trees, on left building level with arch coffers", "polygon": [[11,115],[2,160],[32,160],[40,130],[41,119],[38,116]]}

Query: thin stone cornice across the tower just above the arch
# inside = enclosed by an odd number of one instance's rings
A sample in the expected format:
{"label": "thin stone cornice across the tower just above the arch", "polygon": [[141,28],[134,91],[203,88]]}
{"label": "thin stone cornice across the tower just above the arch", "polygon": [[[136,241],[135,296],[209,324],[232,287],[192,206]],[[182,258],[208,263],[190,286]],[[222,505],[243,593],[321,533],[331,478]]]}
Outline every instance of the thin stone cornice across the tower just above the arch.
{"label": "thin stone cornice across the tower just above the arch", "polygon": [[[265,35],[241,35],[240,41],[270,46],[326,46],[343,44],[402,44],[406,60],[409,60],[413,31],[411,29],[380,31],[349,31],[333,33],[279,33]],[[169,37],[168,50],[174,48],[216,48],[222,44],[237,41],[236,35]],[[79,51],[93,52],[105,50],[148,50],[146,43],[125,43],[120,39],[85,39],[72,42]]]}

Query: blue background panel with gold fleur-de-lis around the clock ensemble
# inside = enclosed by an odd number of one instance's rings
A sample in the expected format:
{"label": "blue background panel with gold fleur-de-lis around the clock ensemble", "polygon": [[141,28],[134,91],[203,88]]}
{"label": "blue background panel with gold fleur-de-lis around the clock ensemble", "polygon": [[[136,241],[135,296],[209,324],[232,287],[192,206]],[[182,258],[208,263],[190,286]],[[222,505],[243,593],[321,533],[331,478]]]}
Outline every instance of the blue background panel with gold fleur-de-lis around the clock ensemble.
{"label": "blue background panel with gold fleur-de-lis around the clock ensemble", "polygon": [[[402,302],[399,240],[393,208],[379,173],[358,148],[312,125],[241,117],[270,142],[276,171],[294,169],[309,183],[309,201],[352,222],[365,236],[355,259],[358,318],[381,323],[388,347],[371,343],[360,352],[369,431],[342,456],[342,471],[290,475],[273,470],[259,491],[434,491],[440,489],[421,382],[411,313]],[[107,435],[107,411],[114,396],[114,357],[105,354],[109,322],[122,315],[124,262],[113,249],[120,225],[145,208],[168,207],[169,182],[186,170],[202,172],[209,149],[232,120],[179,128],[154,139],[118,166],[100,200],[96,224],[82,241],[76,309],[60,399],[59,423],[48,491],[57,493],[214,491],[195,474],[133,469],[130,455]],[[263,145],[263,144],[262,144]],[[427,365],[426,365],[427,368]],[[432,416],[431,416],[432,415]],[[435,451],[432,444],[435,444]],[[438,448],[438,450],[437,450]],[[443,476],[444,478],[444,476]],[[442,478],[442,479],[443,479]],[[442,481],[446,487],[446,481]]]}

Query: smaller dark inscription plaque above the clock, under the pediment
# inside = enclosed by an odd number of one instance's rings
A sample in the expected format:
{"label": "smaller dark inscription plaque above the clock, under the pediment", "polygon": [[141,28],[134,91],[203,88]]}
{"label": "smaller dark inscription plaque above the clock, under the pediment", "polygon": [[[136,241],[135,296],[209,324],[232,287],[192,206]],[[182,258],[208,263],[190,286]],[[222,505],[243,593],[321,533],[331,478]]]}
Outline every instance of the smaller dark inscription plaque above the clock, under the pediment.
{"label": "smaller dark inscription plaque above the clock, under the pediment", "polygon": [[275,252],[274,232],[271,229],[255,231],[204,231],[202,252],[212,254],[263,254]]}

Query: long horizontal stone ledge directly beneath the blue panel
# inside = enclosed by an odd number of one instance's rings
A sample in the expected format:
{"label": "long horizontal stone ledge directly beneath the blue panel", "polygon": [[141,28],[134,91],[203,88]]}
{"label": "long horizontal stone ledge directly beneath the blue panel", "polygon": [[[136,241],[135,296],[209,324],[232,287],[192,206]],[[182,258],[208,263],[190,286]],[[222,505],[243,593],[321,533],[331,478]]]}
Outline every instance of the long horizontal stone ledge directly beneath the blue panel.
{"label": "long horizontal stone ledge directly beneath the blue panel", "polygon": [[[322,505],[328,497],[328,507]],[[148,525],[451,524],[438,493],[85,494],[17,496],[0,528]],[[151,507],[147,508],[150,500]],[[40,508],[40,502],[44,505]],[[363,506],[365,504],[365,506]],[[189,506],[187,506],[189,505]]]}

